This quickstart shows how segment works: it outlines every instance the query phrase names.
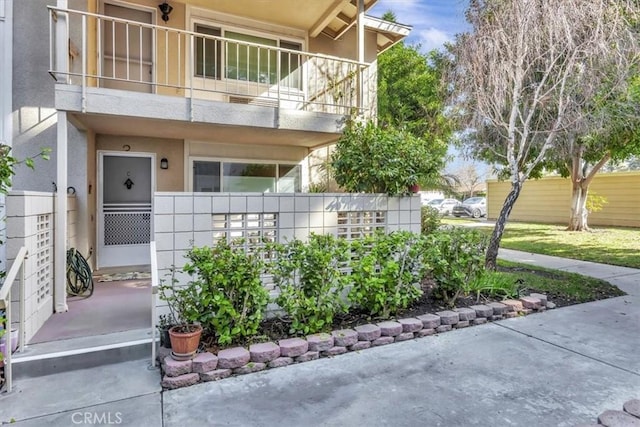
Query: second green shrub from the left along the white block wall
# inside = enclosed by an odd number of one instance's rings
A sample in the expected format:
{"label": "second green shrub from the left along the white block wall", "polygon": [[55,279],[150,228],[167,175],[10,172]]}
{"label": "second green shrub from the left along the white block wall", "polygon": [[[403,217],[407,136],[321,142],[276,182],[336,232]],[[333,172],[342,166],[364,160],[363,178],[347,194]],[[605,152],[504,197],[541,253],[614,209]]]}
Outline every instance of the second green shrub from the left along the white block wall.
{"label": "second green shrub from the left along the white block wall", "polygon": [[349,259],[348,243],[331,235],[311,234],[272,246],[270,271],[280,290],[276,303],[291,320],[290,332],[310,334],[331,327],[346,310],[342,292],[348,277],[340,270]]}

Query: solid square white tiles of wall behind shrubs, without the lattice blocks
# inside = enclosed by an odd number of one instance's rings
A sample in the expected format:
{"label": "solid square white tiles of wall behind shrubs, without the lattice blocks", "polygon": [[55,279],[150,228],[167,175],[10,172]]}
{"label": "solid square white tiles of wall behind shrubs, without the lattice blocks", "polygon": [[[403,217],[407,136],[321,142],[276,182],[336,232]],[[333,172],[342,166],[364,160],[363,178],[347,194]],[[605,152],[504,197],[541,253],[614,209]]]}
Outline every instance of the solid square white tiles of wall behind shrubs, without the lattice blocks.
{"label": "solid square white tiles of wall behind shrubs, without the lattice blocks", "polygon": [[[174,199],[171,201],[170,199]],[[178,200],[179,199],[179,200]],[[415,201],[414,201],[415,199]],[[187,251],[193,246],[213,244],[213,214],[275,213],[280,242],[294,238],[306,240],[309,233],[337,235],[338,212],[383,211],[386,230],[420,231],[420,200],[369,194],[227,194],[159,193],[155,196],[155,240],[158,247],[158,268],[161,274],[172,266],[180,268],[186,262]],[[168,207],[192,206],[193,214],[167,212]],[[189,277],[177,275],[181,283]],[[159,302],[159,305],[163,305]]]}

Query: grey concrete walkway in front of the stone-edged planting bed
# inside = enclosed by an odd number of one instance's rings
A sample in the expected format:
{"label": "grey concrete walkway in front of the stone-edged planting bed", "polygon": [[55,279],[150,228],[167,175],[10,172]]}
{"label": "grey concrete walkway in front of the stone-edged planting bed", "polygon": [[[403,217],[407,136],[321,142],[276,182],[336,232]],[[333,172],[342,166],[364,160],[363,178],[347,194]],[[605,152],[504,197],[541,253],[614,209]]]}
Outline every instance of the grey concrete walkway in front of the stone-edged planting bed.
{"label": "grey concrete walkway in front of the stone-edged planting bed", "polygon": [[575,426],[640,398],[640,270],[501,257],[600,277],[629,295],[164,393],[142,366],[43,377],[0,397],[0,422]]}

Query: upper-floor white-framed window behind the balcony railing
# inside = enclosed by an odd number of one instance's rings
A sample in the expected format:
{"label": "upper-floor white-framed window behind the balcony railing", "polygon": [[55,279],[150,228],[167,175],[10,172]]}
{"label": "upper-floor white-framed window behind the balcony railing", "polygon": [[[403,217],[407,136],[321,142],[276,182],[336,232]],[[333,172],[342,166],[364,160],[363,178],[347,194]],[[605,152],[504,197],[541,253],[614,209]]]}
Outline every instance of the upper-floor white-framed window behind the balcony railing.
{"label": "upper-floor white-framed window behind the balcony railing", "polygon": [[193,31],[203,34],[195,38],[195,76],[272,85],[280,73],[281,85],[302,89],[302,43],[202,23]]}

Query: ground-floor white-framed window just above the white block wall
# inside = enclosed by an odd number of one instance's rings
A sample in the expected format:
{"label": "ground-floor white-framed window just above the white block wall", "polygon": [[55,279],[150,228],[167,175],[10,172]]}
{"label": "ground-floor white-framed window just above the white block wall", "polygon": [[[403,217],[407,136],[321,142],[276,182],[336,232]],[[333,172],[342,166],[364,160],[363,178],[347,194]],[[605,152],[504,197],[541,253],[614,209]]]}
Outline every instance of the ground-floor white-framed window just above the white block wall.
{"label": "ground-floor white-framed window just above the white block wall", "polygon": [[193,160],[193,191],[296,193],[300,165],[255,161]]}

